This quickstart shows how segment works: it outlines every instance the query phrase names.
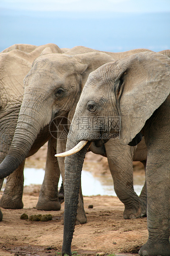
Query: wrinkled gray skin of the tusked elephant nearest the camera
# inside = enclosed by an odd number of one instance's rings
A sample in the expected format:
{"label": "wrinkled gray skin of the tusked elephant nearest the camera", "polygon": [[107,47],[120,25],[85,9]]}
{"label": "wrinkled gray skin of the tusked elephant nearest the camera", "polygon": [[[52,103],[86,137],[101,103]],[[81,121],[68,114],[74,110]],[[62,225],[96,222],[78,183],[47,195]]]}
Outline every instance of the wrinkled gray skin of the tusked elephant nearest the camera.
{"label": "wrinkled gray skin of the tusked elephant nearest the camera", "polygon": [[[147,145],[147,222],[149,239],[141,256],[170,256],[170,58],[141,52],[93,71],[84,86],[72,119],[66,150],[88,140],[78,153],[65,157],[65,215],[62,254],[71,255],[79,180],[90,141],[96,146],[119,135],[126,145],[144,135]],[[105,121],[103,130],[96,117],[115,117],[115,126]],[[88,130],[79,130],[86,117]],[[99,128],[98,128],[99,127]],[[119,129],[117,129],[119,127]],[[84,134],[84,135],[83,135]],[[96,140],[95,135],[101,139]],[[91,139],[93,135],[93,139]],[[134,140],[133,140],[134,141]],[[107,144],[107,143],[106,143]],[[105,145],[106,145],[105,144]]]}

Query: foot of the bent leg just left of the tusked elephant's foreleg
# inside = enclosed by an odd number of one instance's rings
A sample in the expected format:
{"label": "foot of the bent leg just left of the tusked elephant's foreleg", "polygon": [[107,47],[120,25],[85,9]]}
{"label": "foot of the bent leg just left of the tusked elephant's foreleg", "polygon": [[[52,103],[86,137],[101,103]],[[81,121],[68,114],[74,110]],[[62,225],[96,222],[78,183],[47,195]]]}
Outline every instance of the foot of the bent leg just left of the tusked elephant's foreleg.
{"label": "foot of the bent leg just left of the tusked elephant's foreleg", "polygon": [[138,208],[131,208],[131,209],[126,209],[123,212],[123,218],[124,219],[136,219],[136,218],[143,218],[147,217],[147,206],[145,204],[142,204],[140,202],[140,205]]}

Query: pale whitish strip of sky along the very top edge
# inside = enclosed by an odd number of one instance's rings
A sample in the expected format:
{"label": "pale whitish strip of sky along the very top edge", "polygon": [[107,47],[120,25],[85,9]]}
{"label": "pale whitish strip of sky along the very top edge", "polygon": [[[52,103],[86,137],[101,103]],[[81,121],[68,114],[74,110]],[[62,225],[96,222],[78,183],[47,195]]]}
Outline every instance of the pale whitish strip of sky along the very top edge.
{"label": "pale whitish strip of sky along the very top edge", "polygon": [[0,8],[30,11],[170,12],[170,0],[1,0]]}

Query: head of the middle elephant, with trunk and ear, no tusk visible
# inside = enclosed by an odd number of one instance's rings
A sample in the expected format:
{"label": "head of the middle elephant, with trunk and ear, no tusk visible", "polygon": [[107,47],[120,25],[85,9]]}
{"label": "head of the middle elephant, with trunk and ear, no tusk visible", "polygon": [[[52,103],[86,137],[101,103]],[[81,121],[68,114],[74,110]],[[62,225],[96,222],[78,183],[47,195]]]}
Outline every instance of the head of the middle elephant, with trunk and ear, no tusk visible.
{"label": "head of the middle elephant, with trunk and ear, no tusk visible", "polygon": [[23,102],[12,145],[0,166],[0,178],[21,164],[40,130],[52,119],[65,116],[69,111],[73,116],[88,74],[114,60],[101,52],[74,56],[47,53],[48,49],[35,59],[24,79]]}

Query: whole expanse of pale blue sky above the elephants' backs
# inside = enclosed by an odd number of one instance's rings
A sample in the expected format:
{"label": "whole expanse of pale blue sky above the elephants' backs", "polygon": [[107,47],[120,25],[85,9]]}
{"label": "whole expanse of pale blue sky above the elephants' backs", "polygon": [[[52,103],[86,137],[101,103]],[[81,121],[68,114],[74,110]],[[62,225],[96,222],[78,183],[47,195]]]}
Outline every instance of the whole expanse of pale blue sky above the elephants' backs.
{"label": "whole expanse of pale blue sky above the elephants' backs", "polygon": [[0,10],[0,51],[16,43],[170,49],[170,0],[0,0]]}

